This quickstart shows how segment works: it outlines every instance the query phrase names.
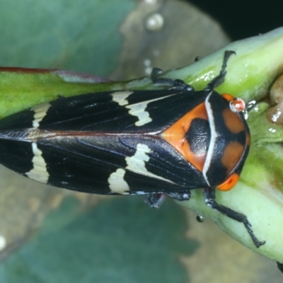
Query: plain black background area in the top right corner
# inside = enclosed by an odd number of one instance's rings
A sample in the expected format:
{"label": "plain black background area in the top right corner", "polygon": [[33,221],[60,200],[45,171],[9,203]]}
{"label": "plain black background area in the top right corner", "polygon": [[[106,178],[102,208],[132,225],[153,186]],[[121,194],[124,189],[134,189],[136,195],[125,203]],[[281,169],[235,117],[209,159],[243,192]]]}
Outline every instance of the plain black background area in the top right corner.
{"label": "plain black background area in the top right corner", "polygon": [[218,20],[231,40],[267,33],[283,25],[282,0],[190,0],[189,2]]}

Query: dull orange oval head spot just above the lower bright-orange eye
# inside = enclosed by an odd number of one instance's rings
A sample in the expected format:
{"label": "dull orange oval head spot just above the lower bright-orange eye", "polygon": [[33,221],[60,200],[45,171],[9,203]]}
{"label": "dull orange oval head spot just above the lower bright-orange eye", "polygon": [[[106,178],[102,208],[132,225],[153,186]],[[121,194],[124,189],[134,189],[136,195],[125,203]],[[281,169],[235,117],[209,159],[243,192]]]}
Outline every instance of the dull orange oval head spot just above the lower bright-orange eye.
{"label": "dull orange oval head spot just above the lower bright-orange eye", "polygon": [[221,163],[226,168],[227,175],[233,171],[243,156],[245,147],[238,143],[238,141],[231,141],[224,149],[224,153],[221,157]]}

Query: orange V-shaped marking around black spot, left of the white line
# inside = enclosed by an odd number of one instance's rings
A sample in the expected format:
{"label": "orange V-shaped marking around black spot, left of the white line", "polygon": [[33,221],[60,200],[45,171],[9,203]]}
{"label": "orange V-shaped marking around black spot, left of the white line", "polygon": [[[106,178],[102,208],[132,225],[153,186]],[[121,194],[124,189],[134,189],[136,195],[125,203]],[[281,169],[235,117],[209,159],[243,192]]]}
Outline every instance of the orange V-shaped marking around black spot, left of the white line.
{"label": "orange V-shaped marking around black spot, left of the white line", "polygon": [[197,105],[196,108],[187,112],[187,114],[171,125],[171,127],[168,127],[168,129],[161,133],[161,137],[171,144],[187,161],[192,163],[192,166],[195,166],[195,168],[201,172],[207,154],[195,155],[190,150],[190,144],[185,138],[185,134],[190,129],[191,122],[195,118],[208,120],[204,103]]}

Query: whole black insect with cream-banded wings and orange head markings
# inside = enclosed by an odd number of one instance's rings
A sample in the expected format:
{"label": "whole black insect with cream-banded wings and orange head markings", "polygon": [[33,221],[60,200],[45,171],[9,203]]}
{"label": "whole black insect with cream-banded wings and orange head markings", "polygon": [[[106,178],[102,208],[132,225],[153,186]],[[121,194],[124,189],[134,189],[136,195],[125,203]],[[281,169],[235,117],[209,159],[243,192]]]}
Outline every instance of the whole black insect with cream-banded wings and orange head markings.
{"label": "whole black insect with cream-banded wings and orange head markings", "polygon": [[0,120],[0,163],[28,178],[69,190],[103,195],[144,195],[158,207],[163,195],[189,200],[202,188],[212,209],[243,223],[244,214],[216,202],[215,190],[236,184],[248,155],[250,132],[243,100],[158,78],[151,91],[108,91],[59,97]]}

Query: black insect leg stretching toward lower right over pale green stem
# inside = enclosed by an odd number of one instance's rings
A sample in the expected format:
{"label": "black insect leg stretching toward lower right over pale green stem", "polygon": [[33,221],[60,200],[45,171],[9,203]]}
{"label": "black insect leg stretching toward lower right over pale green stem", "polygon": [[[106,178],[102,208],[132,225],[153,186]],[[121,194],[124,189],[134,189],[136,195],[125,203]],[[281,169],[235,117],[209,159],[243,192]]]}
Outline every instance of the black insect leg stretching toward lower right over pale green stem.
{"label": "black insect leg stretching toward lower right over pale green stem", "polygon": [[246,230],[248,231],[250,235],[250,238],[253,240],[253,243],[255,244],[257,248],[265,244],[265,241],[259,241],[258,238],[255,236],[251,228],[252,225],[248,221],[248,218],[245,214],[235,212],[233,209],[230,209],[229,207],[224,207],[224,205],[217,203],[215,199],[215,190],[212,189],[211,187],[204,188],[203,194],[204,194],[205,203],[209,207],[217,210],[221,214],[224,214],[233,220],[243,223],[243,225],[245,226]]}

